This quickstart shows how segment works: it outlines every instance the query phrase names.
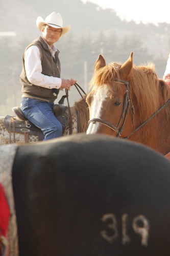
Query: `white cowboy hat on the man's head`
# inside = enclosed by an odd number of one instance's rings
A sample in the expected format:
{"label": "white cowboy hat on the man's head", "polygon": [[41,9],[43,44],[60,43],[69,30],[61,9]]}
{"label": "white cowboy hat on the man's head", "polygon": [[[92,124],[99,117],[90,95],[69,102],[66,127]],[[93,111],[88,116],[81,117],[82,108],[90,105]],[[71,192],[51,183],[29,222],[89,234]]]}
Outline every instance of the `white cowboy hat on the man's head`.
{"label": "white cowboy hat on the man's head", "polygon": [[36,20],[37,28],[41,31],[41,28],[43,25],[49,25],[53,28],[61,28],[62,33],[61,36],[68,32],[70,29],[70,25],[63,27],[63,19],[60,15],[60,13],[52,12],[48,16],[46,16],[45,20],[43,20],[42,17],[38,17]]}

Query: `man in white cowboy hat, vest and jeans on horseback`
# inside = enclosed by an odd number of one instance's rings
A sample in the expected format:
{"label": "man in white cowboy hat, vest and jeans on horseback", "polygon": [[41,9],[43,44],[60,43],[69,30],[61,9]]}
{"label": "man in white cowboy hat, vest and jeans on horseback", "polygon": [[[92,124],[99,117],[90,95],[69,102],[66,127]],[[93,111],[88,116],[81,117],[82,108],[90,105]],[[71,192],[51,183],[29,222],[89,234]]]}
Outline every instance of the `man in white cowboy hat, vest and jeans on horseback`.
{"label": "man in white cowboy hat, vest and jeans on horseback", "polygon": [[38,17],[36,25],[42,36],[32,42],[23,54],[21,111],[41,129],[44,140],[48,140],[62,135],[62,125],[53,113],[59,89],[70,90],[76,80],[60,78],[59,50],[54,46],[70,26],[63,27],[60,13],[55,12],[45,20]]}

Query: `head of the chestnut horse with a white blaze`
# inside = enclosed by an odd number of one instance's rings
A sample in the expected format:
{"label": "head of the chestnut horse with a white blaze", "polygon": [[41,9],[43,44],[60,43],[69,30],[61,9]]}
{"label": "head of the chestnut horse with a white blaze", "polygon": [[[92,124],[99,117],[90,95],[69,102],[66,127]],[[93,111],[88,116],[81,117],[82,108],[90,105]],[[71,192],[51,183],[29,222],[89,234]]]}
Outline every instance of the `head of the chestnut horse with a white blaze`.
{"label": "head of the chestnut horse with a white blaze", "polygon": [[[132,67],[133,52],[123,65],[110,63],[106,66],[105,58],[99,55],[91,80],[92,91],[87,97],[90,111],[87,134],[122,135],[125,121],[129,118],[129,106],[132,106],[128,83]],[[126,126],[128,133],[132,131],[133,122],[129,124]]]}

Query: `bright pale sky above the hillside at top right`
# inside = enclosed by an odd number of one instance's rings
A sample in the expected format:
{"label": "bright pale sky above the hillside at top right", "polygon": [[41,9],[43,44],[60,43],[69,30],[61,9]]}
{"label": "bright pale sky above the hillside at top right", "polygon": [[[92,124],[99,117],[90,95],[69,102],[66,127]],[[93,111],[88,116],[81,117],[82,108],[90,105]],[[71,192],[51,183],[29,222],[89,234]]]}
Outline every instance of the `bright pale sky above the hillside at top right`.
{"label": "bright pale sky above the hillside at top right", "polygon": [[[87,2],[82,0],[82,2]],[[89,0],[103,8],[112,8],[121,19],[134,20],[136,23],[170,24],[169,0]]]}

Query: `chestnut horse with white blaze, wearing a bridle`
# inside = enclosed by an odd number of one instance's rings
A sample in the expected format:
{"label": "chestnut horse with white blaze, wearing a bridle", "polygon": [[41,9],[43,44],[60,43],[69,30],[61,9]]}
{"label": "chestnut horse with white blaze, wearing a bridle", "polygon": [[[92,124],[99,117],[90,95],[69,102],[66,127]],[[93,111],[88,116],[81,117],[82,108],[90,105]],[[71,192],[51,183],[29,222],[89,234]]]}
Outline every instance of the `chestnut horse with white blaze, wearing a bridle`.
{"label": "chestnut horse with white blaze, wearing a bridle", "polygon": [[99,55],[87,96],[87,134],[121,136],[166,155],[170,151],[170,87],[158,79],[154,64],[133,65],[133,53],[122,65],[106,66]]}

